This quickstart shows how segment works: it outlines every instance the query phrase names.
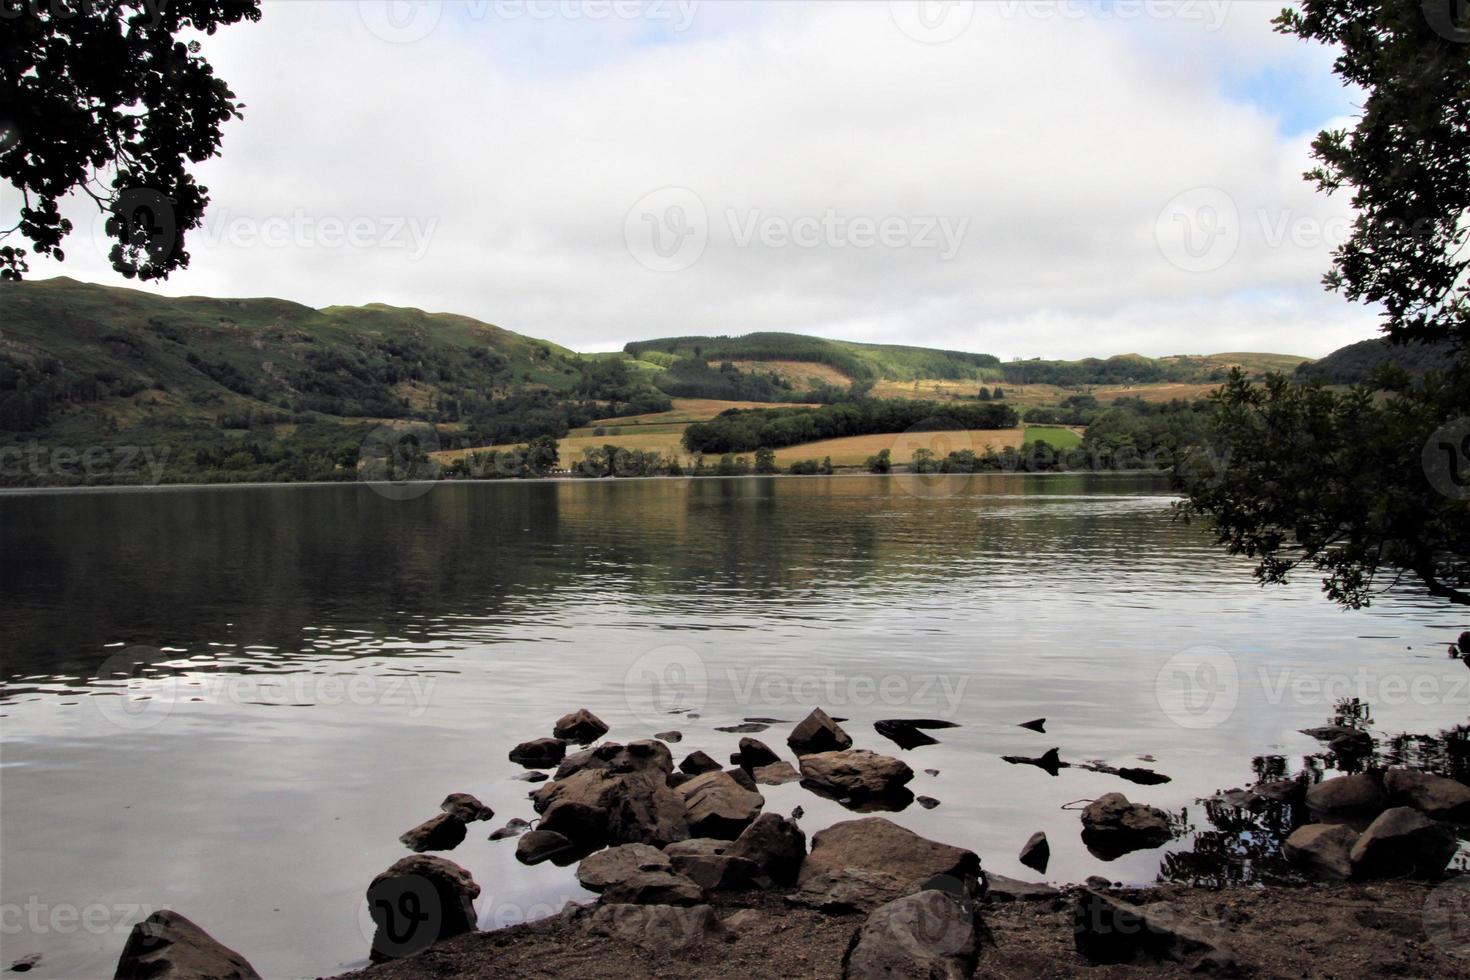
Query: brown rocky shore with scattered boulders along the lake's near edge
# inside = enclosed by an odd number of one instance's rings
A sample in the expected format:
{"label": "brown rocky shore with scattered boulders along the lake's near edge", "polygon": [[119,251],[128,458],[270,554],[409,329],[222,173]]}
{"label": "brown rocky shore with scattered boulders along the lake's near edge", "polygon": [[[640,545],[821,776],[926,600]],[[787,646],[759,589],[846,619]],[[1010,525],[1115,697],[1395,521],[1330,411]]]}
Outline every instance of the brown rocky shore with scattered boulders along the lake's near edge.
{"label": "brown rocky shore with scattered boulders along the lake's near edge", "polygon": [[[1039,721],[1026,727],[1039,730]],[[898,741],[944,723],[885,724],[885,738]],[[595,901],[476,932],[479,884],[425,852],[454,849],[494,811],[451,793],[401,836],[416,854],[369,883],[375,965],[347,976],[1470,974],[1470,877],[1446,871],[1455,826],[1470,821],[1470,788],[1451,779],[1367,768],[1230,790],[1235,807],[1308,814],[1282,845],[1299,884],[1125,889],[1089,879],[1053,887],[986,874],[961,843],[922,837],[888,817],[854,815],[808,840],[800,807],[764,813],[760,786],[792,780],[858,814],[914,799],[906,763],[853,748],[820,708],[786,739],[795,764],[753,738],[741,739],[728,768],[698,751],[675,764],[676,732],[601,742],[607,732],[581,710],[550,738],[510,749],[539,782],[529,793],[538,815],[488,835],[514,837],[523,864],[576,864]],[[1311,735],[1347,752],[1361,748],[1354,732]],[[1167,813],[1105,793],[1080,811],[1079,833],[1105,858],[1158,848],[1175,830]],[[1044,874],[1048,852],[1038,833],[1019,857]],[[182,915],[159,912],[129,937],[116,976],[256,973]]]}

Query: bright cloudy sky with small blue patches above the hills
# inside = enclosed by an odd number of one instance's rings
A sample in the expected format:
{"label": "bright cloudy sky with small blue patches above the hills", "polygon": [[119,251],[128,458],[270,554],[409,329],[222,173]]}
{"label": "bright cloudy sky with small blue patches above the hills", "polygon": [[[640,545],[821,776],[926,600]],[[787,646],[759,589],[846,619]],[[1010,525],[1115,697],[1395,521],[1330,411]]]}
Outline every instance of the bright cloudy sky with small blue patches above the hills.
{"label": "bright cloudy sky with small blue patches above the hills", "polygon": [[[1011,357],[1376,331],[1324,292],[1355,93],[1272,0],[266,0],[169,295],[388,303],[582,351],[794,331]],[[6,188],[7,213],[13,192]],[[123,285],[85,200],[66,262]],[[7,222],[9,223],[9,222]]]}

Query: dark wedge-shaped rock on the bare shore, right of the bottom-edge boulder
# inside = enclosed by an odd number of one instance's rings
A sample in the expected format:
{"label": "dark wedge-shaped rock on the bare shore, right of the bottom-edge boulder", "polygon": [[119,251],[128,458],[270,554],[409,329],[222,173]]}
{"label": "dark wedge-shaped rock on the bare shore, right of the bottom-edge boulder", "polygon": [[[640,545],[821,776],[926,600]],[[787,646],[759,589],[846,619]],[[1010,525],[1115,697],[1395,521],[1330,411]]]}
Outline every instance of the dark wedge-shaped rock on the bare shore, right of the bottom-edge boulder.
{"label": "dark wedge-shaped rock on the bare shore, right of the bottom-edge boulder", "polygon": [[1078,952],[1089,964],[1177,962],[1201,973],[1238,970],[1222,930],[1166,905],[1125,905],[1082,889],[1073,912],[1073,933]]}

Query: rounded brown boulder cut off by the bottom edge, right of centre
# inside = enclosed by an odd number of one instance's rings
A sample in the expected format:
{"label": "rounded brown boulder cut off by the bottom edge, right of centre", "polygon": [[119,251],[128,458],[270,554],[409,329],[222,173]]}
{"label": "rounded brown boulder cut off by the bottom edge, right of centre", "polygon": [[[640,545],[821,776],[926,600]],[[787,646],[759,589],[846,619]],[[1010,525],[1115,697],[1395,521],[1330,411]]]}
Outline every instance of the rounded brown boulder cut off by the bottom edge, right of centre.
{"label": "rounded brown boulder cut off by the bottom edge, right of centre", "polygon": [[867,917],[842,958],[847,980],[975,974],[982,930],[973,907],[938,890],[906,895]]}

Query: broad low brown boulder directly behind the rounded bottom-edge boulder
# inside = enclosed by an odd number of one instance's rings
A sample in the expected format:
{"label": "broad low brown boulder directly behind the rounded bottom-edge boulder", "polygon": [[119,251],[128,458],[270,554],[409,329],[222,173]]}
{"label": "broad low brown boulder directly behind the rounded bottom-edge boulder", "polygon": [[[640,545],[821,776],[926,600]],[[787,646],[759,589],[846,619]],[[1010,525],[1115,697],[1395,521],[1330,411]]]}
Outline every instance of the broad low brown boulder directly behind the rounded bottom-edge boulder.
{"label": "broad low brown boulder directly behind the rounded bottom-edge boulder", "polygon": [[864,817],[819,830],[797,880],[845,870],[881,871],[904,883],[941,876],[964,880],[980,876],[980,860],[973,851],[920,837],[883,817]]}

